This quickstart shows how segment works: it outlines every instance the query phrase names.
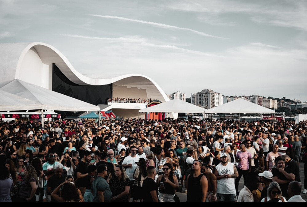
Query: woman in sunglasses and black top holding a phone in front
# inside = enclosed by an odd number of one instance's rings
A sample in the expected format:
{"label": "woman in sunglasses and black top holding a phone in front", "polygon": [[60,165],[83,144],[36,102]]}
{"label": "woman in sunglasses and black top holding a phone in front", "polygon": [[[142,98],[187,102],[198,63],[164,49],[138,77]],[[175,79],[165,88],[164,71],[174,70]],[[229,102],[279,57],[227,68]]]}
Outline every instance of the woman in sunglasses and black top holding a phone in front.
{"label": "woman in sunglasses and black top holding a phone in front", "polygon": [[179,187],[178,180],[173,175],[173,167],[169,163],[165,163],[162,167],[163,174],[157,179],[159,187],[160,202],[175,202],[174,195]]}

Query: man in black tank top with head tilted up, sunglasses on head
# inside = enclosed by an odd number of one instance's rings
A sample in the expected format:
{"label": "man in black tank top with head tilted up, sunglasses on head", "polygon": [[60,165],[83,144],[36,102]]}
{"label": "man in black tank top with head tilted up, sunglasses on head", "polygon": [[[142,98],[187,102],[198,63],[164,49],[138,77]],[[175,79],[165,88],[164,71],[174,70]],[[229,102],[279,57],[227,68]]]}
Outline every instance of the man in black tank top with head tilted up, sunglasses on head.
{"label": "man in black tank top with head tilted up, sunglasses on head", "polygon": [[208,191],[208,180],[204,174],[201,173],[201,161],[194,160],[192,169],[193,173],[188,175],[187,178],[187,190],[188,199],[187,202],[205,202]]}

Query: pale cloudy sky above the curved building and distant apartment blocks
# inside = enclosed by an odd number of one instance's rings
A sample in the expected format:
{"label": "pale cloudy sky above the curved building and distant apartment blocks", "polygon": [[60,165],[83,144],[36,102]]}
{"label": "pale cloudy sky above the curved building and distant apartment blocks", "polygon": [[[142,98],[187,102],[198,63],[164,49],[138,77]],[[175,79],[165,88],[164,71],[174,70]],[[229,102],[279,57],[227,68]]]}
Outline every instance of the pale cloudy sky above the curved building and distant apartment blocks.
{"label": "pale cloudy sky above the curved building and distant apartment blocks", "polygon": [[0,43],[44,42],[90,77],[138,73],[166,94],[307,101],[306,0],[0,0]]}

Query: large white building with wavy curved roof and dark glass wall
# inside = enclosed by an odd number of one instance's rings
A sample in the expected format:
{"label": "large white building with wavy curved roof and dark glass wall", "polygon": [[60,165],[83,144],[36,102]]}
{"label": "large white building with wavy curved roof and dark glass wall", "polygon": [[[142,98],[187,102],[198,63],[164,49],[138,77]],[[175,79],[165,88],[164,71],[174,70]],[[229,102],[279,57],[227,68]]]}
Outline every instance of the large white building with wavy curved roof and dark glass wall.
{"label": "large white building with wavy curved roof and dark glass wall", "polygon": [[99,105],[103,111],[113,110],[124,118],[138,117],[144,103],[109,103],[108,98],[169,98],[152,79],[141,74],[107,75],[90,78],[74,69],[68,59],[46,43],[0,44],[0,82],[20,79],[73,98]]}

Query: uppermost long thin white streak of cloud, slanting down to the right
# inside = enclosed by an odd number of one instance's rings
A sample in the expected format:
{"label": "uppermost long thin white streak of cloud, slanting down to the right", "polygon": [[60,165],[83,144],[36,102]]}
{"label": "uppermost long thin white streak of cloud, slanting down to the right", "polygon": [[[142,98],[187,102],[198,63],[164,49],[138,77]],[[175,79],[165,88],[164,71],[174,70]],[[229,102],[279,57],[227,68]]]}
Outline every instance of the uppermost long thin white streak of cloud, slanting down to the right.
{"label": "uppermost long thin white streak of cloud, slanting down to the right", "polygon": [[173,26],[173,25],[169,25],[169,24],[161,24],[161,23],[152,22],[152,21],[143,21],[143,20],[129,19],[129,18],[125,18],[125,17],[117,17],[117,16],[109,16],[109,15],[98,15],[98,14],[89,14],[89,15],[93,16],[93,17],[102,17],[102,18],[108,18],[108,19],[118,19],[118,20],[123,20],[123,21],[138,22],[138,23],[142,23],[142,24],[150,24],[150,25],[160,27],[160,28],[165,28],[165,29],[185,30],[185,31],[193,32],[195,34],[207,36],[207,37],[214,37],[214,38],[219,38],[219,39],[229,39],[229,38],[225,38],[225,37],[209,35],[209,34],[206,34],[204,32],[200,32],[200,31],[193,30],[193,29],[190,29],[190,28],[177,27],[177,26]]}

